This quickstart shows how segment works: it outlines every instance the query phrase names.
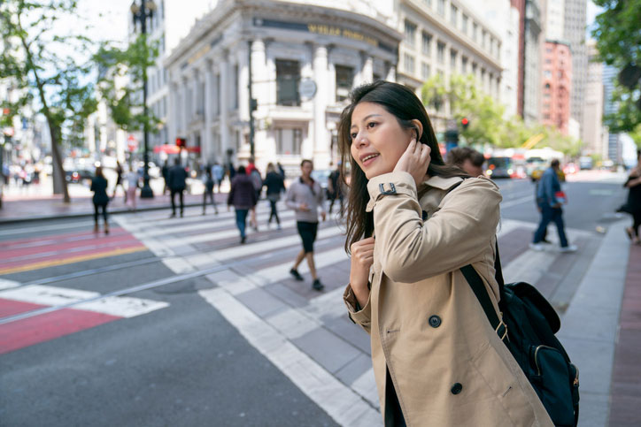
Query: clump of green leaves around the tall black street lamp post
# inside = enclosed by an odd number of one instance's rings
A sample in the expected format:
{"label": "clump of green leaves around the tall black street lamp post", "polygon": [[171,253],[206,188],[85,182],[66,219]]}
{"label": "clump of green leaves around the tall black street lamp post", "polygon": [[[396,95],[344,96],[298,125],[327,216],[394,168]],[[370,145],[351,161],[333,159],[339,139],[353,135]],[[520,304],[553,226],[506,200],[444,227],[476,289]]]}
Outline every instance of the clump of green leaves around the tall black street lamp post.
{"label": "clump of green leaves around the tall black street lamp post", "polygon": [[[100,70],[97,88],[109,106],[113,121],[126,131],[156,131],[160,120],[151,111],[143,112],[143,82],[147,68],[155,65],[158,42],[150,42],[147,34],[139,34],[127,48],[104,43],[94,60]],[[127,84],[121,84],[127,80]]]}

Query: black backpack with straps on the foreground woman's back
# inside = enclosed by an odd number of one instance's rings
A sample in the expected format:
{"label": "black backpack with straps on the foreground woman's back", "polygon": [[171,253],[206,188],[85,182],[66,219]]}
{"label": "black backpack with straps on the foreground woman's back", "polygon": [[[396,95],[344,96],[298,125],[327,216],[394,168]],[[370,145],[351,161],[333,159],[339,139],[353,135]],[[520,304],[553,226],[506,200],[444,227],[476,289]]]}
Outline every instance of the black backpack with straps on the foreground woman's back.
{"label": "black backpack with straps on the foreground woman's back", "polygon": [[552,423],[575,426],[579,420],[579,370],[554,334],[560,319],[550,303],[529,283],[503,283],[501,261],[494,262],[500,291],[498,316],[483,281],[472,265],[460,270],[481,303],[490,324],[509,348],[543,402]]}

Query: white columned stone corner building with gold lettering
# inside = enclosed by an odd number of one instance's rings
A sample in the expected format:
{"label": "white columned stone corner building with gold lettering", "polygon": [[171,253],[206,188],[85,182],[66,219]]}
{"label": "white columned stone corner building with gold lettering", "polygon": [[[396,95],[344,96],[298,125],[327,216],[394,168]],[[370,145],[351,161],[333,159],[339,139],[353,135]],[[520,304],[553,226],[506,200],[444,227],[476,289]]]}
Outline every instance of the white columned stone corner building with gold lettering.
{"label": "white columned stone corner building with gold lettering", "polygon": [[294,172],[303,158],[328,168],[351,88],[396,79],[402,34],[389,9],[361,1],[221,1],[164,62],[169,141],[185,138],[202,162],[246,161],[253,98],[261,171],[279,161]]}

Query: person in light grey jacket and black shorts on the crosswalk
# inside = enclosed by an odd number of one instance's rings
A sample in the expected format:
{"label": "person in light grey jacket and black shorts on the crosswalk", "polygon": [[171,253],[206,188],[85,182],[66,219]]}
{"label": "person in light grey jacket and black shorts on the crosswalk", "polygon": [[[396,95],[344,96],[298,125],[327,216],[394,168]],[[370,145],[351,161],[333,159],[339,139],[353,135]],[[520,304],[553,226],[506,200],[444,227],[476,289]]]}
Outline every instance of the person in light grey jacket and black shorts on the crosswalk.
{"label": "person in light grey jacket and black shorts on the crosswalk", "polygon": [[298,252],[290,274],[297,280],[303,280],[297,269],[298,265],[306,259],[313,278],[312,288],[316,291],[322,291],[325,286],[320,283],[316,274],[316,266],[313,261],[313,242],[316,240],[316,233],[318,233],[318,210],[320,209],[323,221],[325,221],[327,214],[325,206],[323,206],[322,187],[312,178],[312,171],[312,161],[303,160],[300,164],[301,176],[291,183],[285,198],[287,206],[296,211],[296,227],[301,240],[303,240],[303,249]]}

